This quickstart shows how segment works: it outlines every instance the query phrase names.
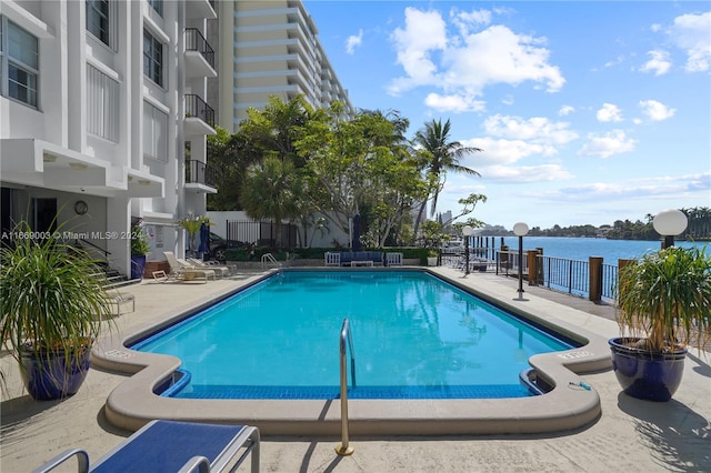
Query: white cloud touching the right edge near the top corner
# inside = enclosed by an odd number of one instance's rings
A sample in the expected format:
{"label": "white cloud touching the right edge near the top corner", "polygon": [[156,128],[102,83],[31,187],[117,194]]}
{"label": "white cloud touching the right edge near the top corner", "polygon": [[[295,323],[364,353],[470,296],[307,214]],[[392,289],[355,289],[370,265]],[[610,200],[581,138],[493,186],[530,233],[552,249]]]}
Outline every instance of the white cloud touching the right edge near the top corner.
{"label": "white cloud touching the right edge near the top corner", "polygon": [[688,72],[703,72],[711,67],[711,12],[682,14],[674,18],[668,34],[674,44],[687,53]]}

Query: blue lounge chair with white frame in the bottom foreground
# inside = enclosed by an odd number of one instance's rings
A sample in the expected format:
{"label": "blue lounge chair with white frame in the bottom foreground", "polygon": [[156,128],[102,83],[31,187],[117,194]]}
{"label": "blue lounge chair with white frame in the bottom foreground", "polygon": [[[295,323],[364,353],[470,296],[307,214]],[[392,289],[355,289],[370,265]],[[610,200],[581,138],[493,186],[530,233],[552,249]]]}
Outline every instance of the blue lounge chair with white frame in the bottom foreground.
{"label": "blue lounge chair with white frame in the bottom foreground", "polygon": [[79,472],[221,472],[228,466],[237,469],[250,453],[251,471],[257,473],[259,450],[259,429],[254,426],[158,420],[146,424],[94,465],[89,464],[86,450],[72,449],[34,473],[52,471],[72,456],[77,456]]}

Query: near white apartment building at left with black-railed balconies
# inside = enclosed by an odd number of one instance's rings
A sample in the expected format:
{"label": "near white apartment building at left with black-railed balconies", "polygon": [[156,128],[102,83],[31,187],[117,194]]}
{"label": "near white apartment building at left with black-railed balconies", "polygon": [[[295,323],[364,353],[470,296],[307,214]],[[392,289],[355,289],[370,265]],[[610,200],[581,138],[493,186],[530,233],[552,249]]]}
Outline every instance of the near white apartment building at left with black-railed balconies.
{"label": "near white apartment building at left with black-railed balconies", "polygon": [[183,254],[177,219],[216,192],[206,102],[216,78],[206,41],[213,1],[2,0],[2,231],[57,218],[69,239],[130,273],[142,221],[150,260]]}

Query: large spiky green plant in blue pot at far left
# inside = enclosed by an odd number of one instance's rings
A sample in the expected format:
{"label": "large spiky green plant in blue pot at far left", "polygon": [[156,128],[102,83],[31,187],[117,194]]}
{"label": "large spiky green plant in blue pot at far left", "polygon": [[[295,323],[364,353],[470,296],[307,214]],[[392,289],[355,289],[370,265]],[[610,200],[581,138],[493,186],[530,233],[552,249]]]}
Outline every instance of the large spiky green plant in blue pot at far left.
{"label": "large spiky green plant in blue pot at far left", "polygon": [[101,321],[111,314],[103,272],[81,249],[21,222],[0,249],[3,346],[37,400],[70,396],[89,370]]}

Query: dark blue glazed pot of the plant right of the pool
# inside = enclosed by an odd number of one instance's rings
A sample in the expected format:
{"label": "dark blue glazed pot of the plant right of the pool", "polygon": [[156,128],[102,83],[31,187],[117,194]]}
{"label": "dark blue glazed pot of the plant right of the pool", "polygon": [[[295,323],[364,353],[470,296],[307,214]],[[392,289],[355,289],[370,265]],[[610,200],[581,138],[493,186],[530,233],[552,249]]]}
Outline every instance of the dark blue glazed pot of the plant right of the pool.
{"label": "dark blue glazed pot of the plant right of the pool", "polygon": [[681,384],[687,349],[651,353],[628,346],[639,339],[610,339],[612,369],[625,394],[648,401],[669,401]]}

